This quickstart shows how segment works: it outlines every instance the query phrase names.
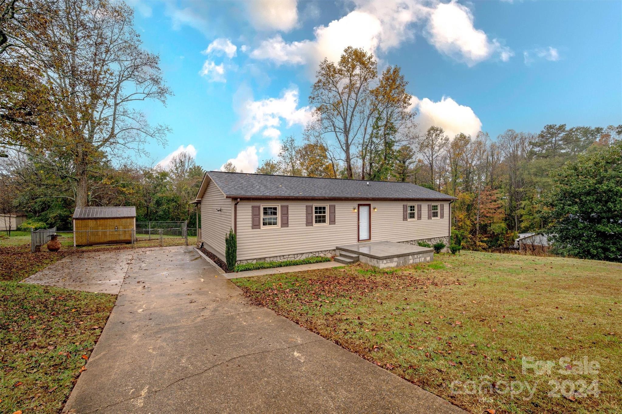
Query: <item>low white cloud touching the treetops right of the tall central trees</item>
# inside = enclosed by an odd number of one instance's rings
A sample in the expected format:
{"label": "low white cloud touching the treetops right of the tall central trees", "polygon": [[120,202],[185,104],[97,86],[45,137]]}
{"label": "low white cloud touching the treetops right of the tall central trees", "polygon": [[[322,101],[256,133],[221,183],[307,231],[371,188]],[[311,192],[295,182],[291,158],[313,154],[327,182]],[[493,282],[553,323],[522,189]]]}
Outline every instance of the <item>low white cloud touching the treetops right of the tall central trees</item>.
{"label": "low white cloud touching the treetops right of the tall central trees", "polygon": [[430,126],[440,126],[449,138],[459,133],[475,136],[481,130],[481,121],[469,106],[458,105],[450,97],[434,102],[412,96],[411,109],[417,109],[417,123],[422,133]]}

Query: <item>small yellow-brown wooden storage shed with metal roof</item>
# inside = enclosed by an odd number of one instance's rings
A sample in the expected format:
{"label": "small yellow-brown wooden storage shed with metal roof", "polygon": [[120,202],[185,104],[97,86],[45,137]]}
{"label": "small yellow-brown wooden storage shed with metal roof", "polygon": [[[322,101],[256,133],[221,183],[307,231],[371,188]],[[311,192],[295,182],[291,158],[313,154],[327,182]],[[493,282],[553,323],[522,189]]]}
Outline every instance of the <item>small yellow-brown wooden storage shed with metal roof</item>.
{"label": "small yellow-brown wooden storage shed with metal roof", "polygon": [[76,207],[73,245],[131,243],[136,231],[136,207]]}

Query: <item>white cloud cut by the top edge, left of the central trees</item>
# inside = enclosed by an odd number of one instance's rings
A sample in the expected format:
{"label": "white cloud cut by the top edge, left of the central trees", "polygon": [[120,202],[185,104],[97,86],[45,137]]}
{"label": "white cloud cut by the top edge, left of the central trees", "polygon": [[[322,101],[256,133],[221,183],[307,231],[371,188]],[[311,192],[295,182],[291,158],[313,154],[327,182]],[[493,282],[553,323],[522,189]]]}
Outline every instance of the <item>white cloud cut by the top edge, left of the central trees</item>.
{"label": "white cloud cut by the top edge, left of the central trees", "polygon": [[246,2],[248,19],[258,30],[288,32],[298,24],[296,0],[251,0]]}

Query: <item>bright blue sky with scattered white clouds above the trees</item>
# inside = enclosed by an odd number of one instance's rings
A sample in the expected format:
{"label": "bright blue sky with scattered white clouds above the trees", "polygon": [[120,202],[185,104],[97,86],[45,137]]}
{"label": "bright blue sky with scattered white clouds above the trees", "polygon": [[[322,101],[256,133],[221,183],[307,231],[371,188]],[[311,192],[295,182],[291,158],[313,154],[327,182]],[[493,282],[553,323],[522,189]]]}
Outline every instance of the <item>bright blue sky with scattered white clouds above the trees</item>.
{"label": "bright blue sky with scattered white clouds above the trees", "polygon": [[142,106],[205,169],[253,170],[298,139],[313,73],[346,45],[399,65],[422,128],[448,134],[622,123],[622,2],[129,1],[174,92]]}

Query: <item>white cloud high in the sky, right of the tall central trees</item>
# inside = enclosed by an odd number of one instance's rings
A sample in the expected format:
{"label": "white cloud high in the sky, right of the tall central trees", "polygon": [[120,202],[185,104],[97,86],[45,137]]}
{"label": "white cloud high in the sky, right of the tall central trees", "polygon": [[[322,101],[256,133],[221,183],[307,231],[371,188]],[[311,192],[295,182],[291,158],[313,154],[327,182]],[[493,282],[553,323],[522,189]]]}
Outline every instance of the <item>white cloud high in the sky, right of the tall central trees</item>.
{"label": "white cloud high in the sky, right of the tall central trees", "polygon": [[455,1],[437,5],[427,25],[427,37],[439,52],[468,66],[493,55],[507,62],[514,55],[499,40],[490,41],[484,31],[475,29],[471,10]]}

